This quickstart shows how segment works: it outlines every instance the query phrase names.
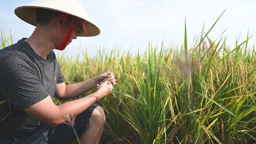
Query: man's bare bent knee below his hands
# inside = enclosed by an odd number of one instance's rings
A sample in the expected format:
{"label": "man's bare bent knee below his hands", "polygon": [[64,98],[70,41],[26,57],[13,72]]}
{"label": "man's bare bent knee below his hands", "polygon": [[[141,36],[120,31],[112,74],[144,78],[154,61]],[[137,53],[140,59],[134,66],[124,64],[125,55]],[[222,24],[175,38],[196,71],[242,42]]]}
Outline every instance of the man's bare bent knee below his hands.
{"label": "man's bare bent knee below his hands", "polygon": [[101,106],[97,106],[92,111],[92,116],[90,118],[90,124],[104,125],[105,120],[106,120],[106,117],[105,117],[104,109]]}

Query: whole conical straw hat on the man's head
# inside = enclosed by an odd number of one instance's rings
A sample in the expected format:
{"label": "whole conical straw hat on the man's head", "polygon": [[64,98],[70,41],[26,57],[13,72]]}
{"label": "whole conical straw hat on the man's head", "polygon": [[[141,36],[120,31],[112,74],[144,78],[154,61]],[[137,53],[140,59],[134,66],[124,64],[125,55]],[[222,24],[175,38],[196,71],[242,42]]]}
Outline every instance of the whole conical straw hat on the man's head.
{"label": "whole conical straw hat on the man's head", "polygon": [[35,0],[29,4],[15,8],[14,13],[21,20],[36,26],[36,8],[64,12],[80,18],[83,20],[87,33],[83,31],[78,36],[96,36],[100,34],[100,29],[92,21],[91,17],[85,12],[84,8],[77,0]]}

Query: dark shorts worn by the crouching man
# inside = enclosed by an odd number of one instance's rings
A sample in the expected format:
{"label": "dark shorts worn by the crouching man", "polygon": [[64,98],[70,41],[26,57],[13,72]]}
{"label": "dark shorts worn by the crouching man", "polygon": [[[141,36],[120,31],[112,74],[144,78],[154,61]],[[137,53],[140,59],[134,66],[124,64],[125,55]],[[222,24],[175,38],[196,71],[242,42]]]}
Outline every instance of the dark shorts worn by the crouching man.
{"label": "dark shorts worn by the crouching man", "polygon": [[[88,128],[89,119],[92,116],[92,111],[99,104],[92,104],[84,112],[76,116],[74,127],[77,135],[80,137]],[[0,144],[69,144],[76,139],[71,126],[67,124],[59,124],[56,127],[47,124],[41,124],[40,129],[33,134],[15,140],[6,140]]]}

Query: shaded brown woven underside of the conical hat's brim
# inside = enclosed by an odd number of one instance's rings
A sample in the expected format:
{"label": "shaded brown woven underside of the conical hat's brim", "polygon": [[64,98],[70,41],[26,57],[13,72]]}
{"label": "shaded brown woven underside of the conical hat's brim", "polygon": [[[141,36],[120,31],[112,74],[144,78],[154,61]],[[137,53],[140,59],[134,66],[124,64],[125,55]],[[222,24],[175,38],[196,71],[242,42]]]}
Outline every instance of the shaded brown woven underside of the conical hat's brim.
{"label": "shaded brown woven underside of the conical hat's brim", "polygon": [[[36,26],[37,25],[36,8],[44,8],[44,9],[54,10],[57,12],[63,12],[57,9],[39,7],[39,6],[20,6],[18,8],[15,8],[14,13],[21,20],[27,22],[28,24],[32,24]],[[63,12],[63,13],[67,13],[67,12]],[[72,15],[71,13],[67,13],[67,14]],[[72,15],[72,16],[75,16],[75,15]],[[87,33],[85,31],[81,32],[78,36],[97,36],[100,34],[100,29],[95,24],[79,16],[75,16],[75,17],[80,18],[83,21],[84,27],[86,28],[86,31],[87,31]]]}

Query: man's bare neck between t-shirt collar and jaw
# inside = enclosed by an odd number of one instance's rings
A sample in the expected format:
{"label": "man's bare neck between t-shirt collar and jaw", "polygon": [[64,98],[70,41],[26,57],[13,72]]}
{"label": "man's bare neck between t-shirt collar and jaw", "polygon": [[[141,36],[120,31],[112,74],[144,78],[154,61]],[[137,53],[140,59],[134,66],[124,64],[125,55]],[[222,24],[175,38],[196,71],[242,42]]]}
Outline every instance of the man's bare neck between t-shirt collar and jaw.
{"label": "man's bare neck between t-shirt collar and jaw", "polygon": [[55,44],[49,36],[49,32],[36,28],[32,35],[25,41],[31,46],[37,55],[41,56],[45,60],[52,50],[55,48]]}

